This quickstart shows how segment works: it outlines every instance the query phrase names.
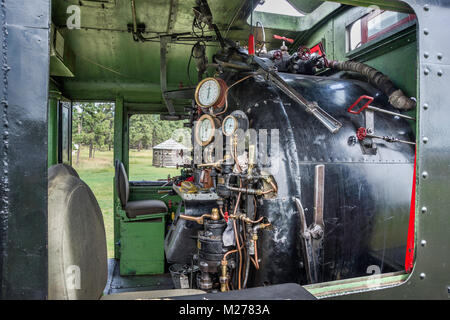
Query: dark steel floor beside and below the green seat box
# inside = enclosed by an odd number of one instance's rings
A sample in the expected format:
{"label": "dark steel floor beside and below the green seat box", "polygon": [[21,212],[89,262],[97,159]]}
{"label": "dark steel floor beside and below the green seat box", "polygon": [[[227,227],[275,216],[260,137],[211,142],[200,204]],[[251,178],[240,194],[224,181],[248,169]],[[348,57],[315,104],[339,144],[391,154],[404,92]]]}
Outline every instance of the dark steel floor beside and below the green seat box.
{"label": "dark steel floor beside and below the green seat box", "polygon": [[108,259],[108,281],[103,294],[168,289],[175,289],[170,274],[121,276],[119,260]]}

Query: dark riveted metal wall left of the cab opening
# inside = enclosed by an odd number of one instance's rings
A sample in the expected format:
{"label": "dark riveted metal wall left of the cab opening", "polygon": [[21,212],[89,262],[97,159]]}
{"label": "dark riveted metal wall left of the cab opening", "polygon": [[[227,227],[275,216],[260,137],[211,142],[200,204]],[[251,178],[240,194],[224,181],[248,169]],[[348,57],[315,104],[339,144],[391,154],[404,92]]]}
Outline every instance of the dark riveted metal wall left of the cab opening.
{"label": "dark riveted metal wall left of the cab opening", "polygon": [[50,0],[0,3],[0,298],[47,297]]}

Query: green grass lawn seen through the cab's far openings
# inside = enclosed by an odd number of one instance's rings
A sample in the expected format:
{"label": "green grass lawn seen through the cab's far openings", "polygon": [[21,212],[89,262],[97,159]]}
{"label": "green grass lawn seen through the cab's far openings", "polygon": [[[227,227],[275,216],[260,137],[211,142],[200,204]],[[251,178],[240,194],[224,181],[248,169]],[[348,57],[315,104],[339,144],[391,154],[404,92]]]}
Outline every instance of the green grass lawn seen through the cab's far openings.
{"label": "green grass lawn seen through the cab's far openings", "polygon": [[[88,147],[81,147],[80,162],[76,164],[76,153],[73,154],[73,167],[81,180],[86,182],[97,198],[105,221],[108,258],[114,257],[114,211],[113,184],[114,164],[113,151],[96,151],[95,158],[89,159]],[[152,167],[152,151],[140,152],[130,150],[130,180],[158,180],[179,175],[175,168]]]}

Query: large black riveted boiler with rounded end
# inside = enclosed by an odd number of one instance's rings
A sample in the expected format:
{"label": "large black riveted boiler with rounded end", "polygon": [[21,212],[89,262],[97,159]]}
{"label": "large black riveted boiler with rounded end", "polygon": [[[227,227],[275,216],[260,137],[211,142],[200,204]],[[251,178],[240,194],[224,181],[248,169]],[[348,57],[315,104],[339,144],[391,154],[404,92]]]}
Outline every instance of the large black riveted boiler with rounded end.
{"label": "large black riveted boiler with rounded end", "polygon": [[[228,84],[238,80],[230,76]],[[294,198],[312,223],[314,168],[325,166],[325,234],[319,281],[390,272],[403,268],[413,181],[414,146],[374,139],[377,152],[364,154],[356,131],[365,127],[364,112],[347,112],[361,95],[376,97],[372,106],[396,112],[387,97],[368,83],[331,77],[280,74],[309,101],[339,120],[343,127],[330,133],[304,108],[262,77],[246,80],[229,92],[229,112],[242,110],[250,128],[279,130],[280,150],[273,160],[279,192],[265,199],[258,212],[269,218],[272,230],[261,232],[260,270],[254,286],[286,282],[307,283]],[[227,112],[227,114],[229,113]],[[415,141],[411,124],[402,118],[375,113],[379,136]],[[355,137],[355,138],[351,138]],[[259,163],[259,165],[262,165]],[[375,266],[375,267],[374,267]]]}

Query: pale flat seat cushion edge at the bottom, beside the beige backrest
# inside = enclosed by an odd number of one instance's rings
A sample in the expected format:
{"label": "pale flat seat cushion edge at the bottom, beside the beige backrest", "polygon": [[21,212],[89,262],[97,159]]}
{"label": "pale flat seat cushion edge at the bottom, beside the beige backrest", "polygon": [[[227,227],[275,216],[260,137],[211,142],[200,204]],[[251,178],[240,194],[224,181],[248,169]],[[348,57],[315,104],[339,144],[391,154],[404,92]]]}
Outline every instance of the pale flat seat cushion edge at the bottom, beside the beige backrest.
{"label": "pale flat seat cushion edge at the bottom, beside the beige backrest", "polygon": [[196,289],[172,289],[172,290],[153,290],[153,291],[135,291],[122,292],[102,296],[101,300],[152,300],[164,299],[177,296],[190,296],[204,294],[205,291]]}

